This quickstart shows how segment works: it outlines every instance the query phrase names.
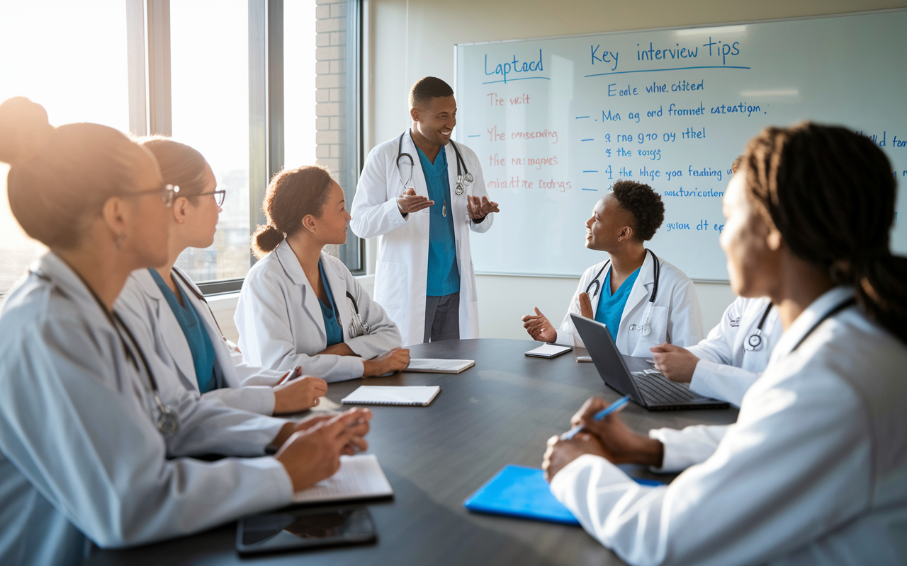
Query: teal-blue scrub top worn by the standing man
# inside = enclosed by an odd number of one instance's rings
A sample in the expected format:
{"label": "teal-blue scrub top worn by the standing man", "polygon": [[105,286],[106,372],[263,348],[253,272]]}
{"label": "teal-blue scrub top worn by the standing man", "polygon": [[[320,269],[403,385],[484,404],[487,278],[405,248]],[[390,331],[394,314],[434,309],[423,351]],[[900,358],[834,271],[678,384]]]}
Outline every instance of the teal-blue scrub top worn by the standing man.
{"label": "teal-blue scrub top worn by the standing man", "polygon": [[[444,148],[434,158],[434,163],[425,157],[422,149],[419,161],[425,174],[428,198],[434,200],[429,208],[428,227],[428,290],[429,297],[443,297],[460,293],[460,269],[456,264],[456,240],[453,235],[453,206],[451,187],[447,177],[447,153]],[[444,216],[444,203],[447,216]]]}

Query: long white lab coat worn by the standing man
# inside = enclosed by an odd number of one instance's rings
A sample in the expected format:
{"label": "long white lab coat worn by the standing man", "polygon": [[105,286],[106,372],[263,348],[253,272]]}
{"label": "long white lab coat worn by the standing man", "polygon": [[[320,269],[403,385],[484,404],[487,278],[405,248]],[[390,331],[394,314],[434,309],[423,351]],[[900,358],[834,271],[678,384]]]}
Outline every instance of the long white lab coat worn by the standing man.
{"label": "long white lab coat worn by the standing man", "polygon": [[[400,329],[404,344],[421,344],[425,336],[425,296],[428,289],[429,212],[425,208],[404,217],[397,208],[396,198],[404,191],[400,170],[396,167],[399,137],[385,141],[368,154],[362,168],[349,225],[360,238],[378,236],[378,257],[375,267],[375,302],[381,304],[387,316]],[[475,292],[475,273],[469,246],[469,232],[485,232],[494,215],[475,223],[467,210],[467,196],[487,197],[482,165],[472,149],[457,144],[463,162],[475,177],[464,185],[463,195],[457,195],[456,154],[453,145],[444,146],[447,156],[447,177],[451,188],[448,214],[453,216],[453,236],[456,243],[457,266],[460,270],[460,338],[479,337],[479,306]],[[412,135],[403,138],[403,152],[413,156],[415,194],[428,197],[425,175],[419,162]],[[469,229],[467,229],[469,228]]]}

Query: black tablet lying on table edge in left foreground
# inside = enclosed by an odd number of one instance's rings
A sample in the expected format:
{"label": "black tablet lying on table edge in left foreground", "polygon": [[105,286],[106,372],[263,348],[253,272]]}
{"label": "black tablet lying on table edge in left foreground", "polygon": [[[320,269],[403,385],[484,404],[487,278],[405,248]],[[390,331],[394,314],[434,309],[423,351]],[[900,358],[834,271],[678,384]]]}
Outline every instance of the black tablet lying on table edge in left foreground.
{"label": "black tablet lying on table edge in left foreground", "polygon": [[365,507],[287,509],[239,520],[239,554],[288,552],[375,542],[372,514]]}

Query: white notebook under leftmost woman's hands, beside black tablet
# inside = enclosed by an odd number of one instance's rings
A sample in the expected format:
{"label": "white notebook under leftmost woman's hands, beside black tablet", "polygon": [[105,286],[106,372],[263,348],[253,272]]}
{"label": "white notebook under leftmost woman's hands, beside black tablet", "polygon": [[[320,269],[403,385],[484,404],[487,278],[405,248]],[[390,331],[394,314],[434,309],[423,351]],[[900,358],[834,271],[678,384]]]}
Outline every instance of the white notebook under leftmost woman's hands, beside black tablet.
{"label": "white notebook under leftmost woman's hands, beside black tablet", "polygon": [[374,454],[340,456],[335,475],[293,494],[293,503],[325,503],[351,499],[371,499],[394,494],[384,470]]}

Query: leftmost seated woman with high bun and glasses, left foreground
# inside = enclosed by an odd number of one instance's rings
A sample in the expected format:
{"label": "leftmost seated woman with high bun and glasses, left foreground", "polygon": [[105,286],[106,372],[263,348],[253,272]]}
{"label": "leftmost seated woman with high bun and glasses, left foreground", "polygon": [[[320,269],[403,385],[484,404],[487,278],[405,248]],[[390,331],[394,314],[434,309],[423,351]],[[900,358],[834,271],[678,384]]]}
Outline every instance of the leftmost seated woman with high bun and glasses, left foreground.
{"label": "leftmost seated woman with high bun and glasses, left foreground", "polygon": [[106,126],[54,129],[19,98],[0,104],[0,160],[13,215],[49,248],[0,312],[0,563],[80,564],[89,542],[283,507],[367,446],[367,412],[306,428],[156,379],[166,365],[113,311],[132,271],[167,260],[174,187],[151,153]]}

